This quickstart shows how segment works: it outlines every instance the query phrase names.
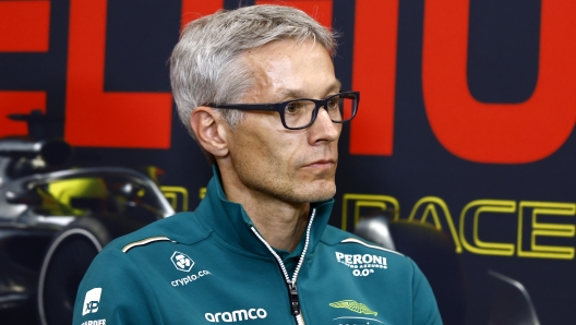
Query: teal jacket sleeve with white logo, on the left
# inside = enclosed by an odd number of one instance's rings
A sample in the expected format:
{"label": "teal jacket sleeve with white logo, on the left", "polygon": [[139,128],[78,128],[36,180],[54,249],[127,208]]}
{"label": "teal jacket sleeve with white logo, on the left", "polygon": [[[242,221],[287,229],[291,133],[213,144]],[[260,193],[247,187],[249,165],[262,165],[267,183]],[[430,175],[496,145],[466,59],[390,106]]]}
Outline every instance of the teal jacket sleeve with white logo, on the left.
{"label": "teal jacket sleeve with white logo, on the left", "polygon": [[105,249],[82,280],[74,325],[163,324],[148,279],[124,253]]}

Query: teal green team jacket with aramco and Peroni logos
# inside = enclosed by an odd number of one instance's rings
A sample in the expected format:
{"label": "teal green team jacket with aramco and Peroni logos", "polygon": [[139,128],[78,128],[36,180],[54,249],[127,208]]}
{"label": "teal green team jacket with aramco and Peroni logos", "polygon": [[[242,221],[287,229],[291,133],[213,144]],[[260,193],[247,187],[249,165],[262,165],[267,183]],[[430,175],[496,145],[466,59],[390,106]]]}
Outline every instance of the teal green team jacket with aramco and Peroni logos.
{"label": "teal green team jacket with aramco and Peroni logos", "polygon": [[74,325],[442,324],[409,257],[327,226],[332,200],[312,205],[295,252],[277,251],[215,174],[195,212],[118,238],[96,256]]}

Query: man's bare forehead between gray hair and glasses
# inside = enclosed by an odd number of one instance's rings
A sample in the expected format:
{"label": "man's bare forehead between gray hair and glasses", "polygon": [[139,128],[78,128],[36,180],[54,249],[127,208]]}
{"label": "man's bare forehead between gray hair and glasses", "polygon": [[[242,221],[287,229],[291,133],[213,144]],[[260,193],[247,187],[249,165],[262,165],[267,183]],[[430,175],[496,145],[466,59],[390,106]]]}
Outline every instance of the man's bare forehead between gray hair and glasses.
{"label": "man's bare forehead between gray hair and glasses", "polygon": [[[247,100],[322,98],[339,91],[328,51],[313,40],[284,39],[244,53],[254,77]],[[256,100],[257,99],[257,100]]]}

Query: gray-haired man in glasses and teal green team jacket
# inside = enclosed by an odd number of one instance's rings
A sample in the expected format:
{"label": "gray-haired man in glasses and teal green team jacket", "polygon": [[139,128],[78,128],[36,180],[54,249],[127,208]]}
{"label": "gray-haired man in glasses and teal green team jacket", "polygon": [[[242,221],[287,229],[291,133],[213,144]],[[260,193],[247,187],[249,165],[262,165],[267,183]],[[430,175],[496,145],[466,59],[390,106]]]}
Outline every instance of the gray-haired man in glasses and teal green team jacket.
{"label": "gray-haired man in glasses and teal green team jacket", "polygon": [[359,101],[340,92],[334,51],[328,29],[287,7],[185,27],[173,96],[214,178],[195,212],[96,257],[74,324],[441,324],[411,260],[326,226]]}

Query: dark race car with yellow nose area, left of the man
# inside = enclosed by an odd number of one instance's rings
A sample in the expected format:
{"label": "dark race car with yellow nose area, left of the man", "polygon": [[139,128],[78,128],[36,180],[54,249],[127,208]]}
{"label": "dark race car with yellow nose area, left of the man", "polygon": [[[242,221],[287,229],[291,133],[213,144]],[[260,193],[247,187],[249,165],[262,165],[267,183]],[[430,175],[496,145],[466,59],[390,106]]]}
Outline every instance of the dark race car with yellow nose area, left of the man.
{"label": "dark race car with yellow nose area, left of the man", "polygon": [[17,324],[37,323],[31,309],[43,325],[71,324],[77,287],[101,248],[175,213],[151,178],[63,169],[70,153],[63,141],[0,140],[2,324],[11,310],[27,320]]}

